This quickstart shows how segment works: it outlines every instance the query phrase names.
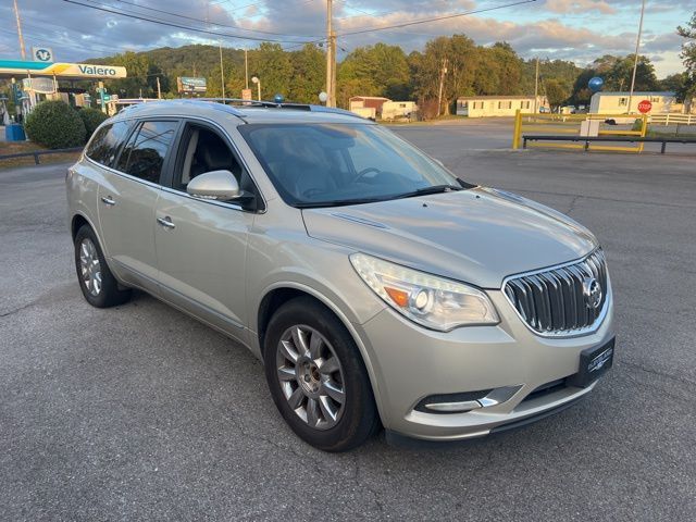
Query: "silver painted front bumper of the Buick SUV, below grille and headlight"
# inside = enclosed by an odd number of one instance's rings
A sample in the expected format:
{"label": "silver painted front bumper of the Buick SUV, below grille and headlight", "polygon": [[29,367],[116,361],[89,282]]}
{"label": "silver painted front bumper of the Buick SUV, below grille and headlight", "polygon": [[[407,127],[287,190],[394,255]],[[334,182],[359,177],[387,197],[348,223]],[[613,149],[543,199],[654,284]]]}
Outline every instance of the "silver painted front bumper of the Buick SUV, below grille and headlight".
{"label": "silver painted front bumper of the Buick SUV, below grille and headlight", "polygon": [[[582,350],[613,337],[611,291],[607,314],[597,330],[566,338],[534,334],[501,291],[487,294],[500,315],[496,326],[433,332],[391,309],[355,325],[370,357],[375,398],[386,430],[426,440],[478,437],[560,410],[595,387],[596,383],[585,388],[561,384],[538,391],[548,383],[575,374]],[[511,387],[514,393],[506,400],[467,412],[430,412],[422,408],[423,399],[430,396]]]}

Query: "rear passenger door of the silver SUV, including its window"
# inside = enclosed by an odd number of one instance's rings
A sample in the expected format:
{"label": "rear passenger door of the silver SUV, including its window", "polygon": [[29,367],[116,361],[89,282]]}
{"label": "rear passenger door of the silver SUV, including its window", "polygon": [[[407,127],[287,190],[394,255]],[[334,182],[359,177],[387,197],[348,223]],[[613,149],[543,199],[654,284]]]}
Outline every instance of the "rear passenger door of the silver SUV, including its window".
{"label": "rear passenger door of the silver SUV, including its window", "polygon": [[178,120],[134,124],[99,188],[99,223],[109,265],[124,283],[157,293],[154,210]]}

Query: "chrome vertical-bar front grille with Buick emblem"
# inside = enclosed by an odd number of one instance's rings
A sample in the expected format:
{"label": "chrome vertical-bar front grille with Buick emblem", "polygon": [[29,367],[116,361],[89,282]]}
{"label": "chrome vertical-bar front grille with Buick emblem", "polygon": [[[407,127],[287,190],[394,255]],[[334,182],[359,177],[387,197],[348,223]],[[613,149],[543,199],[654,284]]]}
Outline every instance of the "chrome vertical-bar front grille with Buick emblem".
{"label": "chrome vertical-bar front grille with Buick emblem", "polygon": [[598,248],[575,263],[513,276],[504,290],[535,332],[572,335],[589,328],[604,311],[608,291],[605,254]]}

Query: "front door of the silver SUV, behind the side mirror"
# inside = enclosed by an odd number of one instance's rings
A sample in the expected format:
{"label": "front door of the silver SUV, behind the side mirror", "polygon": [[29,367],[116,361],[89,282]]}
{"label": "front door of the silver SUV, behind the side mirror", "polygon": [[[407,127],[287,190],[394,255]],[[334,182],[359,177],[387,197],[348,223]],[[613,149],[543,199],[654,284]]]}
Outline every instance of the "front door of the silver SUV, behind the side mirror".
{"label": "front door of the silver SUV, behind the side mirror", "polygon": [[186,124],[177,149],[171,187],[162,190],[157,206],[162,296],[245,340],[247,237],[254,214],[237,204],[194,198],[186,185],[210,171],[227,170],[238,179],[246,174],[216,128]]}

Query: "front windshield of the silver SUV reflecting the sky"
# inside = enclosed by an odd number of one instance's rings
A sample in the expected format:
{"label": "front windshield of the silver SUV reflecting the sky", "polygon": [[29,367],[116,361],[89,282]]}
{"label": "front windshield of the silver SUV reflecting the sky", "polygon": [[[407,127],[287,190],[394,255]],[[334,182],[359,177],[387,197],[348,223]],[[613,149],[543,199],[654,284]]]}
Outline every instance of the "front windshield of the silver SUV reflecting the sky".
{"label": "front windshield of the silver SUV reflecting the sky", "polygon": [[372,124],[237,127],[294,207],[384,201],[469,187],[413,146]]}

